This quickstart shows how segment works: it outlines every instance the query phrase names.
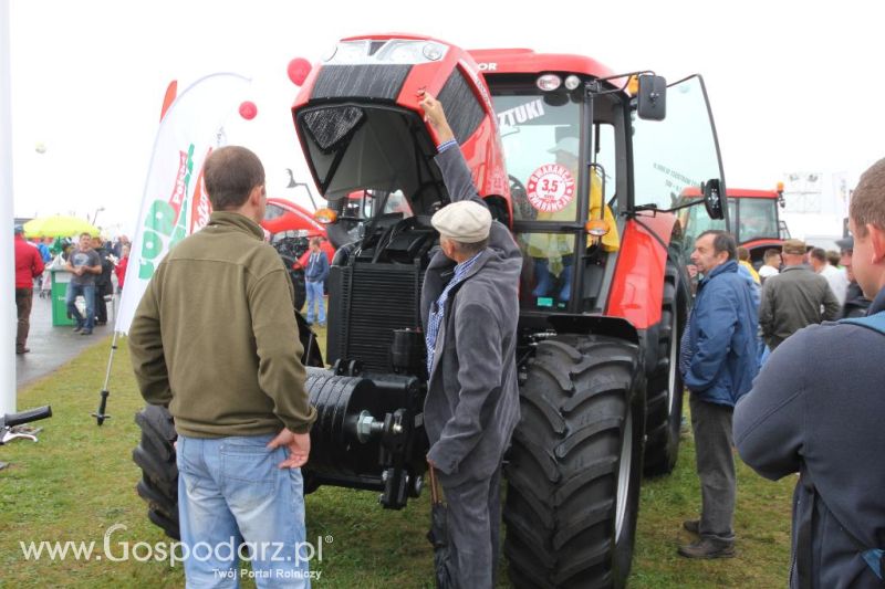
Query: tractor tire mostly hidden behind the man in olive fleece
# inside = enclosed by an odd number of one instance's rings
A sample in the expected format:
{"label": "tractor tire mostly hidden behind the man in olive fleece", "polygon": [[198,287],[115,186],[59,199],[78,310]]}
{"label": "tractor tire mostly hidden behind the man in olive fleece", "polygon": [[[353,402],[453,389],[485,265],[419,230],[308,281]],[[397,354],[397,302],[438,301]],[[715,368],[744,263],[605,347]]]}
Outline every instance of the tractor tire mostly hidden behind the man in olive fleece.
{"label": "tractor tire mostly hidden behind the man in olive fleece", "polygon": [[[304,348],[301,361],[305,366],[323,366],[323,357],[315,335],[304,319],[295,313],[299,338]],[[168,409],[149,404],[135,414],[142,430],[142,440],[132,452],[132,459],[142,469],[142,480],[135,486],[138,496],[147,502],[147,517],[163,528],[167,536],[180,539],[178,528],[178,466],[175,462],[175,441],[178,434]],[[305,493],[316,488],[309,480]]]}

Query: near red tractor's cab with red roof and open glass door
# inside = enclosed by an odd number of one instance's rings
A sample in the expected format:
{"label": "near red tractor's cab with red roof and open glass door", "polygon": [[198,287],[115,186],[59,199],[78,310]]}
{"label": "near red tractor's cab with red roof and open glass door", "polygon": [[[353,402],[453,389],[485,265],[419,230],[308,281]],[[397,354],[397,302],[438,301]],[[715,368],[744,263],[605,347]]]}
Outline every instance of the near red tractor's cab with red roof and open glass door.
{"label": "near red tractor's cab with red roof and open glass door", "polygon": [[[697,191],[693,204],[707,207],[694,211],[710,223],[725,213],[702,81],[691,76],[668,87],[650,73],[614,75],[589,57],[519,49],[471,55],[489,85],[504,149],[513,231],[525,260],[523,323],[637,308],[626,267],[656,263],[648,236],[665,249],[681,248],[681,233],[663,221],[680,191]],[[632,232],[637,227],[639,239]],[[629,266],[618,273],[624,259]],[[622,286],[632,291],[627,306],[611,296],[626,294]]]}

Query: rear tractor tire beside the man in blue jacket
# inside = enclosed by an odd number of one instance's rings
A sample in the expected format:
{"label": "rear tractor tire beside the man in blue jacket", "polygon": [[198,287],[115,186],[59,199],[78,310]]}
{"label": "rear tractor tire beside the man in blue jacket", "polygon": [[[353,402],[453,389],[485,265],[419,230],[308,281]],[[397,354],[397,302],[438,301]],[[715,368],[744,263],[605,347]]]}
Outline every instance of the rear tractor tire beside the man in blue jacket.
{"label": "rear tractor tire beside the man in blue jacket", "polygon": [[[668,474],[679,455],[683,422],[683,376],[679,372],[679,344],[688,318],[688,275],[681,254],[670,249],[664,275],[664,297],[657,329],[657,364],[648,378],[646,392],[645,474]],[[650,343],[649,343],[650,344]]]}

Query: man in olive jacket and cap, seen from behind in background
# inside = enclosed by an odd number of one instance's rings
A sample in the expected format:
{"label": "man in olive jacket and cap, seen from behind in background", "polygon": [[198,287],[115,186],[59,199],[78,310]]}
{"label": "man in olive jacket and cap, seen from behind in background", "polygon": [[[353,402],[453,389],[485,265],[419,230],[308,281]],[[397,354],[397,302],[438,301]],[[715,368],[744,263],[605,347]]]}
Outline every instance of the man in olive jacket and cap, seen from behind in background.
{"label": "man in olive jacket and cap, seen from behind in background", "polygon": [[805,264],[802,240],[783,242],[783,270],[762,285],[759,326],[772,351],[784,339],[812,324],[839,317],[842,305],[826,278]]}

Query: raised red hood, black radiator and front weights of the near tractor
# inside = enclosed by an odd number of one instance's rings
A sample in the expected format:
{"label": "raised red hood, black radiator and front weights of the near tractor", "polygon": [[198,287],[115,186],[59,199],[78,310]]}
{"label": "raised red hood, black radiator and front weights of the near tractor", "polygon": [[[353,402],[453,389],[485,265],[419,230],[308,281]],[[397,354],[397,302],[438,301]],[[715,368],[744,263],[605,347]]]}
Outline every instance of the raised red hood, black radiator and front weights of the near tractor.
{"label": "raised red hood, black radiator and front weights of the near tractor", "polygon": [[308,380],[320,417],[306,486],[377,490],[392,508],[417,496],[427,469],[420,294],[438,243],[430,217],[451,200],[434,162],[437,138],[418,106],[423,92],[446,105],[479,193],[509,224],[494,111],[464,50],[427,38],[343,40],[292,107],[311,175],[330,203],[317,219],[336,220],[345,231],[335,233],[353,238],[329,276],[332,369],[311,369]]}

